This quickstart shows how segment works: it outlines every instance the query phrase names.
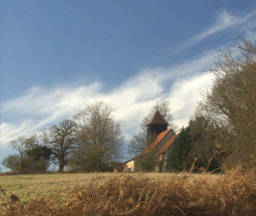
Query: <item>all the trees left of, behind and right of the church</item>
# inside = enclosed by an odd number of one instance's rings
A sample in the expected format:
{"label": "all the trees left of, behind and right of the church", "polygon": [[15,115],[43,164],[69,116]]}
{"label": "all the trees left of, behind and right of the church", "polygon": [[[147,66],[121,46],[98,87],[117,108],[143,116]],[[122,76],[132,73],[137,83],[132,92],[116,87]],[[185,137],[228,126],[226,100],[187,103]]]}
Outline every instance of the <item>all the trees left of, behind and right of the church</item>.
{"label": "all the trees left of, behind and right of the church", "polygon": [[[215,79],[194,117],[173,143],[171,168],[232,168],[241,162],[245,169],[256,168],[256,41],[244,40],[230,46],[207,68]],[[140,124],[140,131],[128,145],[131,157],[147,146],[146,124],[154,115],[152,107]],[[159,111],[175,132],[169,101]],[[49,161],[76,171],[104,171],[111,161],[120,159],[124,149],[122,122],[113,118],[115,108],[103,102],[87,104],[72,120],[10,142],[19,155],[9,155],[4,166],[19,172],[46,170]],[[151,167],[151,166],[150,166]],[[153,166],[152,166],[153,167]],[[153,168],[152,168],[153,169]]]}

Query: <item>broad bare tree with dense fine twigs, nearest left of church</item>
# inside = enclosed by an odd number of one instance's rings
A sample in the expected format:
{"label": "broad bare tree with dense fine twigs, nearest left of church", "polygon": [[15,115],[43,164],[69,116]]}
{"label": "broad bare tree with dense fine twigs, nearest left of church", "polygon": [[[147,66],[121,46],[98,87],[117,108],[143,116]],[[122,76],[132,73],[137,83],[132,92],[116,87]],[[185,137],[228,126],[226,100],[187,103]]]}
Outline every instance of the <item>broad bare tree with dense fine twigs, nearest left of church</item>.
{"label": "broad bare tree with dense fine twigs, nearest left of church", "polygon": [[74,115],[79,127],[79,148],[74,164],[83,171],[104,170],[120,159],[124,144],[122,122],[113,118],[115,108],[103,101],[86,104]]}

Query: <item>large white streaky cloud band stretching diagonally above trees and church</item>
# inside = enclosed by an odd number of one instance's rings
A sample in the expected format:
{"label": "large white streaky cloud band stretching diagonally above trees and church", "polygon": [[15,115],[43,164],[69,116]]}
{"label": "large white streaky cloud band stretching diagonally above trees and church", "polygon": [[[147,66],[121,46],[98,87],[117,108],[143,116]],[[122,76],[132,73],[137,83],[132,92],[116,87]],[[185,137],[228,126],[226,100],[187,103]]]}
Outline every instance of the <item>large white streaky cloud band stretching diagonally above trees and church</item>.
{"label": "large white streaky cloud band stretching diagonally above trees and church", "polygon": [[2,104],[3,115],[12,113],[12,120],[1,124],[1,144],[23,134],[38,133],[43,127],[71,118],[84,103],[99,100],[118,107],[115,117],[126,122],[127,138],[137,132],[142,117],[156,104],[157,97],[171,101],[175,123],[182,127],[200,98],[200,86],[210,82],[208,75],[198,71],[211,62],[212,55],[207,53],[172,68],[144,69],[111,92],[104,92],[104,85],[99,82],[52,89],[33,87],[23,96]]}

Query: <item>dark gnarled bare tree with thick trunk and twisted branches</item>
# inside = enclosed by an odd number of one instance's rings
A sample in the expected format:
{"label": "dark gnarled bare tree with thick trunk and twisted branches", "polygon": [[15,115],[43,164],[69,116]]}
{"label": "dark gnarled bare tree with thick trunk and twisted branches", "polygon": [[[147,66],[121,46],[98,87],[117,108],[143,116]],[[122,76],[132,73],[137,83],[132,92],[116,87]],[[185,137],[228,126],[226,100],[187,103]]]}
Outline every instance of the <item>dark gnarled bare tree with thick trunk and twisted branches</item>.
{"label": "dark gnarled bare tree with thick trunk and twisted branches", "polygon": [[70,155],[77,148],[76,122],[66,119],[52,126],[49,129],[49,147],[58,161],[59,171],[63,172]]}

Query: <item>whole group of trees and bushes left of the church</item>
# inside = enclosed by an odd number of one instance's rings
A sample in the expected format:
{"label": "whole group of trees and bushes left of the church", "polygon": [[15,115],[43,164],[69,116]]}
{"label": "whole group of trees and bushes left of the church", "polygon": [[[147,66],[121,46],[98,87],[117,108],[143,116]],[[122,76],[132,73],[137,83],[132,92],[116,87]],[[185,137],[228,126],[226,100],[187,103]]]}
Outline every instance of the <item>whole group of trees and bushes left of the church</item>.
{"label": "whole group of trees and bushes left of the church", "polygon": [[42,173],[51,162],[59,171],[108,171],[124,147],[123,123],[113,118],[115,108],[102,101],[86,104],[72,120],[44,129],[41,134],[20,136],[10,142],[18,154],[2,164],[15,173]]}

